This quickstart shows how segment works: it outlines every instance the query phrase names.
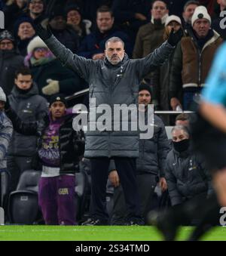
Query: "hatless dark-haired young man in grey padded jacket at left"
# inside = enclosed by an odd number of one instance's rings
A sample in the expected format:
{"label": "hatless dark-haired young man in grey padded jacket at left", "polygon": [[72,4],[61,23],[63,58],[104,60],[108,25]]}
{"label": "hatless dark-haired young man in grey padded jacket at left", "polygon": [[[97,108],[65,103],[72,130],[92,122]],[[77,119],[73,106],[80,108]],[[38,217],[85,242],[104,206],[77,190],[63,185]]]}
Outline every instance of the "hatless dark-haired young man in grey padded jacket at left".
{"label": "hatless dark-haired young man in grey padded jacket at left", "polygon": [[[12,109],[23,121],[36,122],[47,113],[47,100],[38,95],[31,71],[21,66],[14,74],[14,88],[8,96]],[[11,174],[10,191],[17,187],[20,174],[32,168],[32,156],[35,153],[37,138],[24,136],[16,131],[8,150],[8,171]]]}

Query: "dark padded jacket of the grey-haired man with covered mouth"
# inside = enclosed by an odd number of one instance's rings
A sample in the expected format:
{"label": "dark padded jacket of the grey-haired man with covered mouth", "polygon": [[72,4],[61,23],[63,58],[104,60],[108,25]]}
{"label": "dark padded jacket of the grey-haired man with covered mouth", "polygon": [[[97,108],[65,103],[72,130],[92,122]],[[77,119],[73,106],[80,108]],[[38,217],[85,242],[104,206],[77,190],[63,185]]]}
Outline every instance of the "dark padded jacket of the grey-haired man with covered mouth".
{"label": "dark padded jacket of the grey-haired man with covered mouth", "polygon": [[203,159],[189,150],[171,150],[166,159],[166,182],[172,205],[212,190],[211,177]]}

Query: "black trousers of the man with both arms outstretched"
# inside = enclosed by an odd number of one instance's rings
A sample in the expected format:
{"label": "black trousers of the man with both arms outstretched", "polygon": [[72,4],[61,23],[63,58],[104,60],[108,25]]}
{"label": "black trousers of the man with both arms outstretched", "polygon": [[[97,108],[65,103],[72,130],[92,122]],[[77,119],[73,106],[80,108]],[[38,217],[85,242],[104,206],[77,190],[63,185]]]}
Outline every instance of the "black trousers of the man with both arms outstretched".
{"label": "black trousers of the man with both arms outstretched", "polygon": [[[124,190],[128,217],[140,217],[139,195],[136,184],[136,159],[114,157],[121,185]],[[108,220],[105,205],[105,192],[108,180],[110,159],[99,157],[90,159],[91,164],[91,215],[102,220]]]}

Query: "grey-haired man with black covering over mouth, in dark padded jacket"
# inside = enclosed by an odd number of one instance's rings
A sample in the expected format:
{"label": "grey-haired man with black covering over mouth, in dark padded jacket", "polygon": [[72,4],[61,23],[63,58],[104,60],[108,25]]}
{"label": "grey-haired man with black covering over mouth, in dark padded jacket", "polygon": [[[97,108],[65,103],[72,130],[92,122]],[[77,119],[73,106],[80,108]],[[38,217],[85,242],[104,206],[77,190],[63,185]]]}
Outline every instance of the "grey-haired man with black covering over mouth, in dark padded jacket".
{"label": "grey-haired man with black covering over mouth, in dark padded jacket", "polygon": [[212,190],[211,177],[200,156],[190,150],[190,136],[185,126],[171,132],[173,149],[166,158],[165,178],[171,204],[179,205],[192,198],[206,198]]}

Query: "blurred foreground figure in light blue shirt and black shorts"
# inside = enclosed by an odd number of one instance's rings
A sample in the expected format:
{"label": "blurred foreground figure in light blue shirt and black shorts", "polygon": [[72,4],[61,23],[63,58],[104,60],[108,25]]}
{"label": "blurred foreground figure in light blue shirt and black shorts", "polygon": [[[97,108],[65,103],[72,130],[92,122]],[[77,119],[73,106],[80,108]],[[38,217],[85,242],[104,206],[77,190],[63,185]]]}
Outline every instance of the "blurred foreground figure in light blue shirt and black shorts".
{"label": "blurred foreground figure in light blue shirt and black shorts", "polygon": [[162,214],[149,213],[149,223],[155,224],[166,240],[173,240],[183,221],[199,217],[200,221],[189,240],[197,240],[211,227],[220,224],[220,208],[226,205],[226,44],[219,48],[206,88],[191,119],[194,150],[201,153],[212,171],[215,194],[206,200],[171,208]]}

